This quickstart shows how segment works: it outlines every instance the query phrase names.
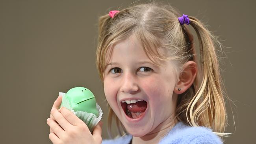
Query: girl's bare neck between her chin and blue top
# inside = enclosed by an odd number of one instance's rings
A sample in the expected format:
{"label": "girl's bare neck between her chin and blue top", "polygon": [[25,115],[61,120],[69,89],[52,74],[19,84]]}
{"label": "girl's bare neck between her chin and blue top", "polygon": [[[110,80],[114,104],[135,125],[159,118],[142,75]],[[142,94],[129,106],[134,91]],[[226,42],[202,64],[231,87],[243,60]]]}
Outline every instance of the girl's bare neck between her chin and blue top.
{"label": "girl's bare neck between her chin and blue top", "polygon": [[178,120],[174,119],[172,115],[147,135],[143,137],[132,137],[132,144],[158,144],[177,122]]}

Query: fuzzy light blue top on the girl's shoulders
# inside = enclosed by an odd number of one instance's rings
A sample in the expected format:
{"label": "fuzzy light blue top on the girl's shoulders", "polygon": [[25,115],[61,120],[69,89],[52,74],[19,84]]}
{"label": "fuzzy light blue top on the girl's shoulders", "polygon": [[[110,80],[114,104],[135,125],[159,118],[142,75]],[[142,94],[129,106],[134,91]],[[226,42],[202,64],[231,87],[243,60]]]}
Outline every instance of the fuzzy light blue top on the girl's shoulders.
{"label": "fuzzy light blue top on the girl's shoulders", "polygon": [[[102,144],[130,144],[132,135],[103,140]],[[163,137],[159,144],[223,144],[211,129],[206,127],[186,126],[178,122],[169,133]]]}

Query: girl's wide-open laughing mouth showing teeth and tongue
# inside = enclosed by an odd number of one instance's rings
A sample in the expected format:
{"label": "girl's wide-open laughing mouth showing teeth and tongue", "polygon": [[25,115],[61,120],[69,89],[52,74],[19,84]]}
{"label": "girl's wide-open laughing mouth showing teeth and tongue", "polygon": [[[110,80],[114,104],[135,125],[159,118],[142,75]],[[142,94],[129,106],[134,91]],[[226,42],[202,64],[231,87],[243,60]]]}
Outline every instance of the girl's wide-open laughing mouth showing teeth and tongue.
{"label": "girl's wide-open laughing mouth showing teeth and tongue", "polygon": [[130,102],[121,102],[122,109],[124,110],[124,113],[129,118],[139,118],[141,115],[143,115],[147,109],[147,102],[144,100],[137,101],[135,103]]}

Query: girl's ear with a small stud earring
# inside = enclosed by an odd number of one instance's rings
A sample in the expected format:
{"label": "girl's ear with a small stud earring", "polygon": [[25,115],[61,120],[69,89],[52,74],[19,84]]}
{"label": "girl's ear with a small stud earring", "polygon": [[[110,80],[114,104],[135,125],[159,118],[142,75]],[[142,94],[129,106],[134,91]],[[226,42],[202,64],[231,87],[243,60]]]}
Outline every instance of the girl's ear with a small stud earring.
{"label": "girl's ear with a small stud earring", "polygon": [[193,84],[197,76],[197,64],[194,61],[188,61],[183,65],[183,70],[179,76],[179,81],[174,87],[176,94],[182,94]]}

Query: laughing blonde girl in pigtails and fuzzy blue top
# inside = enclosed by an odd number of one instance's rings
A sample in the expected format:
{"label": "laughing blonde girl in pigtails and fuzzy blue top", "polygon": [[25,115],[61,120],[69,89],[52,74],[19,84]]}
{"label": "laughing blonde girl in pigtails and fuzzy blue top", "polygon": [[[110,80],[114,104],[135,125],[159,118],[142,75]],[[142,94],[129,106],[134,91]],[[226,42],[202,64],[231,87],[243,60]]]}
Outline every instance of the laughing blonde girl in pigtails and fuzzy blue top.
{"label": "laughing blonde girl in pigtails and fuzzy blue top", "polygon": [[[110,106],[108,133],[114,118],[122,136],[103,143],[221,144],[218,136],[228,133],[215,42],[220,46],[199,20],[169,5],[139,4],[100,17],[96,64]],[[102,143],[101,122],[91,134],[70,111],[58,111],[60,103],[47,120],[54,144]]]}

